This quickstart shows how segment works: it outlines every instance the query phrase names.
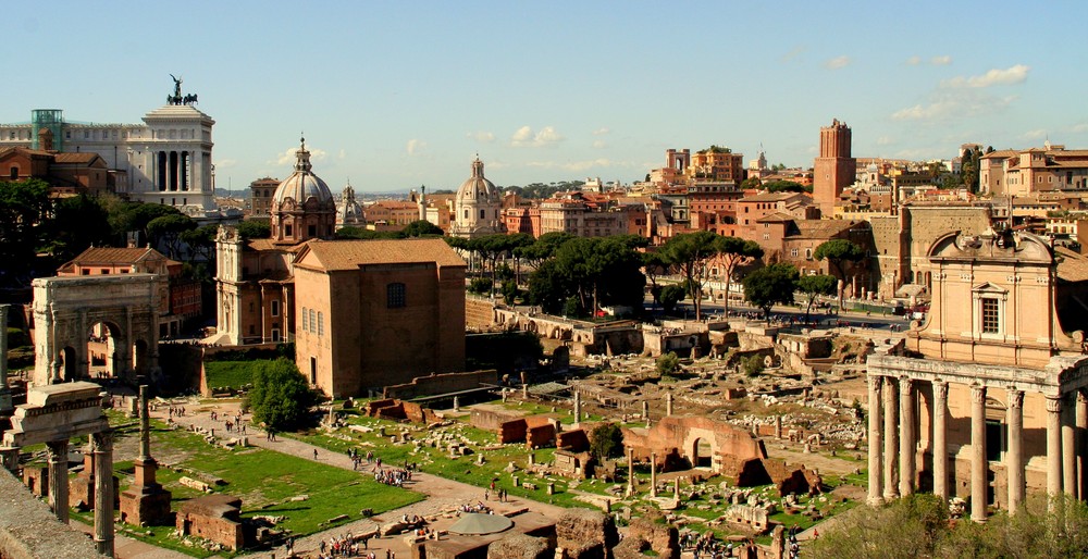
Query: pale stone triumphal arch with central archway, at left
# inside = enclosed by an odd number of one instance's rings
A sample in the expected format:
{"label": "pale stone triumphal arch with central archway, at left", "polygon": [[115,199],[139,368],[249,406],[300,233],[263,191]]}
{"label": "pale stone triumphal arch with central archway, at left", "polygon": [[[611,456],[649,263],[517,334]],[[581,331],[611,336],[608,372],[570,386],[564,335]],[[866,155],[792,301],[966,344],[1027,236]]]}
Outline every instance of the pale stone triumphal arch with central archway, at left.
{"label": "pale stone triumphal arch with central archway, at left", "polygon": [[34,384],[90,377],[92,332],[108,333],[106,371],[134,382],[158,368],[159,291],[153,274],[34,281]]}

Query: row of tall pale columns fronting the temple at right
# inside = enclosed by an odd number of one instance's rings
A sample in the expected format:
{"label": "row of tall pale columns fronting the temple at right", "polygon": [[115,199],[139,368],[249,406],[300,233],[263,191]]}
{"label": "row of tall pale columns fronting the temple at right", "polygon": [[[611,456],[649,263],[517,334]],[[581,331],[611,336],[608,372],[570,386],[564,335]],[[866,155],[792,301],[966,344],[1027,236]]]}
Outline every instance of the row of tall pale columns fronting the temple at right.
{"label": "row of tall pale columns fronting the temple at right", "polygon": [[[868,376],[868,500],[871,505],[905,497],[915,490],[919,419],[914,417],[914,410],[918,382],[906,376],[898,378],[873,374]],[[936,380],[931,385],[934,494],[948,499],[950,497],[949,384]],[[986,459],[987,388],[982,384],[970,386],[970,518],[975,521],[984,521],[987,515],[989,487],[989,464]],[[1063,490],[1074,497],[1080,496],[1076,463],[1076,428],[1088,428],[1088,400],[1081,393],[1075,394],[1075,405],[1063,401],[1062,397],[1047,396],[1046,399],[1047,492],[1052,496]],[[1006,396],[1005,425],[1009,430],[1009,446],[1004,465],[1007,472],[1009,510],[1015,512],[1023,506],[1026,492],[1024,390],[1009,389]]]}

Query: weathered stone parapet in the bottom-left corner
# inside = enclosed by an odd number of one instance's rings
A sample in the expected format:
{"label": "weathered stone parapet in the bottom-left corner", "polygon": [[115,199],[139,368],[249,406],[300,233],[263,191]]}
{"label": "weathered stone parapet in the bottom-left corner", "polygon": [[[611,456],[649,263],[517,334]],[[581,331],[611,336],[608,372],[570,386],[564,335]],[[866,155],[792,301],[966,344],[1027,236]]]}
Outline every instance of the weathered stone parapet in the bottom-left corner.
{"label": "weathered stone parapet in the bottom-left corner", "polygon": [[0,557],[3,559],[87,559],[106,557],[85,534],[62,524],[49,506],[35,499],[0,469]]}

